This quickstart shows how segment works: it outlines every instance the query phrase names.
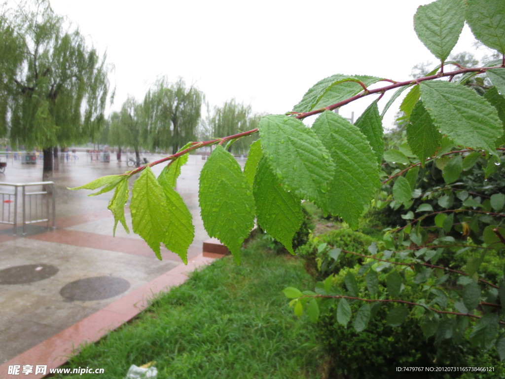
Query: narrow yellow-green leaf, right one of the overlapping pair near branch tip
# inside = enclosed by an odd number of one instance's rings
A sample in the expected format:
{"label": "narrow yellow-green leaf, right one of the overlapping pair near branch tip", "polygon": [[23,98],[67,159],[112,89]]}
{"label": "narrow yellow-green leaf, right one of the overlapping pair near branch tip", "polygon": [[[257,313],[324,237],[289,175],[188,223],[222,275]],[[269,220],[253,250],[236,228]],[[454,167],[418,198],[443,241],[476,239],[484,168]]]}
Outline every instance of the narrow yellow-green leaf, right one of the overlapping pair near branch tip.
{"label": "narrow yellow-green leaf, right one of the overlapping pair near branch tip", "polygon": [[176,253],[184,264],[187,264],[187,251],[194,239],[194,226],[191,212],[173,188],[177,176],[178,174],[169,171],[167,176],[158,177],[158,183],[165,194],[166,216],[169,220],[165,225],[166,232],[162,242],[168,250]]}

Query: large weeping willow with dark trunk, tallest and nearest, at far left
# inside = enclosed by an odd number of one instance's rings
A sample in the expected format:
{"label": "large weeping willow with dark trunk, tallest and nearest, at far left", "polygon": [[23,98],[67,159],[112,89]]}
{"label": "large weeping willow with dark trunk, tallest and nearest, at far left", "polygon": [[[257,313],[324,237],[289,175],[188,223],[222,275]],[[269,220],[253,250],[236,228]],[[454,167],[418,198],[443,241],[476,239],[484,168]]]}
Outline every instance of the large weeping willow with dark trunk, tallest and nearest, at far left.
{"label": "large weeping willow with dark trunk, tallest and nearest, at far left", "polygon": [[109,90],[100,57],[46,0],[2,8],[0,132],[44,152],[52,177],[55,146],[89,140],[104,122]]}

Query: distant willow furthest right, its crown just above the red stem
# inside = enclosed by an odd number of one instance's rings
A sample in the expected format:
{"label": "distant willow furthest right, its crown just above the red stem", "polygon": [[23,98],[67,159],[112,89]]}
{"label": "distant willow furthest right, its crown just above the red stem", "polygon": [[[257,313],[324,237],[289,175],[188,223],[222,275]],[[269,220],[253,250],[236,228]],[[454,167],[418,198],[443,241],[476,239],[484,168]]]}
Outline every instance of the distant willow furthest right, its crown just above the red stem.
{"label": "distant willow furthest right, its crown just above the red stem", "polygon": [[[251,107],[236,103],[235,99],[224,103],[222,107],[214,108],[214,115],[209,120],[213,136],[231,135],[258,127],[262,115],[252,114]],[[253,140],[258,136],[252,137]],[[244,153],[249,150],[250,140],[236,140],[229,146],[229,151]]]}

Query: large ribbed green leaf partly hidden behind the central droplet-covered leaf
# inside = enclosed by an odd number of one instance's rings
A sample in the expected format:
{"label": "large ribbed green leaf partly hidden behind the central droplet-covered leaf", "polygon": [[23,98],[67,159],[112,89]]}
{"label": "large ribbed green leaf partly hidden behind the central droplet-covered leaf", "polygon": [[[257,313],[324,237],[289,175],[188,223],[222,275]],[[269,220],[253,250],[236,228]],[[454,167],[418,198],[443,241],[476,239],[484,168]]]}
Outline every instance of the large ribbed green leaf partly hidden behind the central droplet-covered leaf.
{"label": "large ribbed green leaf partly hidden behind the central droplet-covered leaf", "polygon": [[[324,141],[335,162],[335,174],[322,208],[358,228],[365,208],[380,188],[377,159],[363,133],[343,117],[324,112],[312,129]],[[325,207],[326,205],[326,207]]]}

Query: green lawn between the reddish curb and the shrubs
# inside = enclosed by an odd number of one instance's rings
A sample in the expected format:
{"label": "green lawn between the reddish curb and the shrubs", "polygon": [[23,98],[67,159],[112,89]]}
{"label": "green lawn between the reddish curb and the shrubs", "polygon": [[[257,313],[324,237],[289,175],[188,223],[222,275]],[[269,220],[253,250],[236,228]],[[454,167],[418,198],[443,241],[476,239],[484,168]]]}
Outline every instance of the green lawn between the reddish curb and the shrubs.
{"label": "green lawn between the reddish curb and the shrubs", "polygon": [[242,250],[241,261],[226,257],[194,272],[65,367],[123,378],[131,364],[156,361],[158,379],[320,377],[315,326],[297,319],[281,292],[313,288],[303,261],[265,252],[261,241]]}

